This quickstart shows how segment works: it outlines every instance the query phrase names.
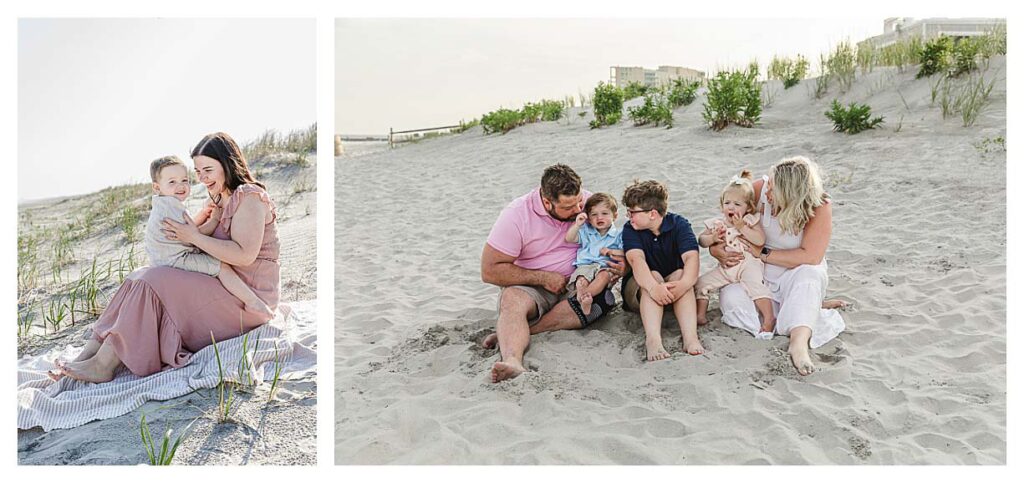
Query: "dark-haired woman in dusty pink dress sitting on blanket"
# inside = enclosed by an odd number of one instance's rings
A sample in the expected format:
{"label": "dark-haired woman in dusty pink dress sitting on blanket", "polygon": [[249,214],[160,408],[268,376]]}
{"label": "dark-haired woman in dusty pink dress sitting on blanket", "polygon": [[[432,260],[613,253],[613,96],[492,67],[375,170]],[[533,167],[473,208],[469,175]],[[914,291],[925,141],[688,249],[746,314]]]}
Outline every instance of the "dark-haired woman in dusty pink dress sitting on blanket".
{"label": "dark-haired woman in dusty pink dress sitting on blanket", "polygon": [[[281,296],[276,208],[256,181],[239,145],[224,133],[209,134],[193,149],[199,180],[211,204],[194,221],[164,221],[168,237],[191,244],[231,265],[271,310]],[[214,209],[220,220],[211,235],[200,233]],[[92,340],[58,374],[102,383],[123,364],[139,377],[180,367],[212,343],[238,337],[268,321],[245,310],[217,278],[171,267],[143,267],[118,290],[92,330]]]}

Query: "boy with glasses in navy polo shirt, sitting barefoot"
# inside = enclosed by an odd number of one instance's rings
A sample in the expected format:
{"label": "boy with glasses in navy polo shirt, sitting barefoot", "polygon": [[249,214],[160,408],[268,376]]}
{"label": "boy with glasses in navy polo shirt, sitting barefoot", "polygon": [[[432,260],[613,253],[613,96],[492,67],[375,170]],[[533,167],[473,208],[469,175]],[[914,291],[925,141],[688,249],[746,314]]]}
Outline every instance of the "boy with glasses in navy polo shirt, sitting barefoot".
{"label": "boy with glasses in navy polo shirt, sitting barefoot", "polygon": [[670,305],[679,321],[683,350],[703,354],[693,295],[700,258],[690,222],[669,213],[669,189],[657,181],[634,181],[623,193],[623,205],[629,217],[623,226],[623,250],[631,268],[623,280],[623,300],[627,309],[640,312],[647,360],[670,357],[662,343],[662,317]]}

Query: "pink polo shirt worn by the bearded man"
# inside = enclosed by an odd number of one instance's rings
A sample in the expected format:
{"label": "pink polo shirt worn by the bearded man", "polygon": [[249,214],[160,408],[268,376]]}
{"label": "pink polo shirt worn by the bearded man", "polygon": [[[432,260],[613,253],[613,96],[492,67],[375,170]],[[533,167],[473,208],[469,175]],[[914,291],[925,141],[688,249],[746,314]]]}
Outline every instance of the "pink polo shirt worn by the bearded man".
{"label": "pink polo shirt worn by the bearded man", "polygon": [[[584,190],[584,200],[590,191]],[[569,276],[575,267],[578,244],[565,242],[571,221],[558,221],[544,209],[541,189],[512,201],[490,228],[487,245],[515,257],[515,265],[527,270],[545,270]]]}

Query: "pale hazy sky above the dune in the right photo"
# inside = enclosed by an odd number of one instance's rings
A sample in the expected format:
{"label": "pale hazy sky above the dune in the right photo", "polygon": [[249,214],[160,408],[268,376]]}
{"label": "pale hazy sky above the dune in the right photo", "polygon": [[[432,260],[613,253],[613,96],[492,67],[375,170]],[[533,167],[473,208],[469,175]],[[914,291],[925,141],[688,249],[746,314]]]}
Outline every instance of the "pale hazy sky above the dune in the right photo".
{"label": "pale hazy sky above the dune in the right photo", "polygon": [[802,53],[815,69],[818,53],[881,34],[883,20],[340,18],[335,131],[445,126],[499,106],[590,96],[611,65],[712,73]]}

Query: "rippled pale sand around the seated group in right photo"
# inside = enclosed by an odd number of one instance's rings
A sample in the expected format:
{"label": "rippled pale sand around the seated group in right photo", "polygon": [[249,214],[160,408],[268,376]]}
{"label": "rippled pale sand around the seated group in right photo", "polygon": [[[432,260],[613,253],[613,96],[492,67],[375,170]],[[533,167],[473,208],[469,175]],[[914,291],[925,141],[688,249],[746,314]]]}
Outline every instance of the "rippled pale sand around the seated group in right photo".
{"label": "rippled pale sand around the seated group in right photo", "polygon": [[[942,119],[915,73],[858,73],[821,99],[814,80],[769,82],[774,101],[751,129],[708,130],[698,95],[672,129],[591,130],[591,114],[570,113],[336,158],[336,463],[1006,464],[1005,58],[968,128]],[[885,124],[831,132],[833,98]],[[785,338],[724,325],[713,300],[703,356],[680,352],[667,316],[672,358],[645,362],[639,317],[620,308],[535,336],[530,370],[489,382],[498,354],[479,341],[498,289],[480,281],[480,252],[545,167],[567,164],[616,199],[634,178],[660,180],[670,211],[696,225],[732,175],[792,155],[822,168],[828,297],[853,304],[846,332],[813,350],[816,374],[797,375]],[[701,272],[714,266],[700,256]]]}

